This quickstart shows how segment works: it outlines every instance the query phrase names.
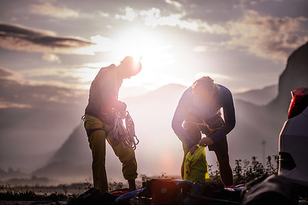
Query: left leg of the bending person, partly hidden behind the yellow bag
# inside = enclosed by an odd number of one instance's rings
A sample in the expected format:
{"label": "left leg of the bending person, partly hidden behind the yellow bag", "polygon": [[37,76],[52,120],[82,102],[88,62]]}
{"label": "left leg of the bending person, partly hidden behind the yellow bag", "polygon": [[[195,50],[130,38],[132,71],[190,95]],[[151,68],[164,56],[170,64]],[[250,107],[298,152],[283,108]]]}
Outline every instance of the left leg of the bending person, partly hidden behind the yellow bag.
{"label": "left leg of the bending person, partly hidden behind the yellow bag", "polygon": [[[183,126],[185,132],[187,133],[187,135],[197,144],[198,141],[200,141],[201,139],[201,131],[199,130],[198,126],[194,125],[194,124],[184,124]],[[184,165],[185,165],[185,158],[186,155],[188,153],[189,148],[186,148],[185,146],[183,146],[183,152],[184,152],[184,156],[183,156],[183,161],[182,161],[182,165],[181,165],[181,177],[184,177]]]}

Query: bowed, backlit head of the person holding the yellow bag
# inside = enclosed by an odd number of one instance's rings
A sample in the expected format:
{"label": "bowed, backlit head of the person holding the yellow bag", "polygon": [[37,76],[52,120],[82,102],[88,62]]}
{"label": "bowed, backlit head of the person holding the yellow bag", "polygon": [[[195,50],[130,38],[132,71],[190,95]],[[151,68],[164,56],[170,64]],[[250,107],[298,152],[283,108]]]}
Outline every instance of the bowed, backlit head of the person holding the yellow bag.
{"label": "bowed, backlit head of the person holding the yellow bag", "polygon": [[219,92],[219,87],[210,77],[201,77],[192,84],[192,94],[202,99],[211,99]]}

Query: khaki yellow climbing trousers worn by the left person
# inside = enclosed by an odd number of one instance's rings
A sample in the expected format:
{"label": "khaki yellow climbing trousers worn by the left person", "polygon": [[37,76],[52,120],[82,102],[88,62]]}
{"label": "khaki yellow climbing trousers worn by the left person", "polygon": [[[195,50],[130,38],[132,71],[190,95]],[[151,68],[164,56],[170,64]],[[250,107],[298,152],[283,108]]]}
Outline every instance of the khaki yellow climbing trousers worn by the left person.
{"label": "khaki yellow climbing trousers worn by the left person", "polygon": [[[105,139],[106,133],[110,131],[110,126],[104,124],[98,118],[92,115],[85,116],[84,126],[86,131],[98,129],[90,133],[88,136],[88,141],[90,143],[90,148],[92,150],[92,173],[94,188],[99,189],[101,193],[108,191],[107,175],[105,169],[105,156],[106,156],[106,146]],[[101,128],[101,129],[99,129]],[[110,143],[110,134],[107,135],[107,141]],[[122,143],[114,146],[110,143],[112,149],[120,162],[122,163],[122,172],[126,180],[136,179],[137,174],[137,161],[135,157],[135,152],[132,148],[123,148]]]}

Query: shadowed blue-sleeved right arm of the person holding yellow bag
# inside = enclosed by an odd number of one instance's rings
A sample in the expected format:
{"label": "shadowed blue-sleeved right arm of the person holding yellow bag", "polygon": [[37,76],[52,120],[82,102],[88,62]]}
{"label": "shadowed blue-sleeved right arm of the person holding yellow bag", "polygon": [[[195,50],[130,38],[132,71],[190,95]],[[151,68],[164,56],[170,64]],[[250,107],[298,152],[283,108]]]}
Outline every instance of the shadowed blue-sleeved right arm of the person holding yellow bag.
{"label": "shadowed blue-sleeved right arm of the person holding yellow bag", "polygon": [[222,96],[222,109],[224,111],[224,125],[209,137],[214,143],[220,141],[222,137],[230,133],[235,127],[235,110],[233,105],[232,94],[229,90]]}

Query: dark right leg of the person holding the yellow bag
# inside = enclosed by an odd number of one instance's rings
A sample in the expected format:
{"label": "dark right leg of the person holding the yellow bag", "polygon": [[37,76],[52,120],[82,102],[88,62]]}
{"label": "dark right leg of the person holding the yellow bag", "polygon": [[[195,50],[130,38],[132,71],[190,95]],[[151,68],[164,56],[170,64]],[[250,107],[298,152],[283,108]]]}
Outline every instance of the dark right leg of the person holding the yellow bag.
{"label": "dark right leg of the person holding the yellow bag", "polygon": [[216,154],[222,183],[224,183],[224,186],[232,186],[233,173],[229,162],[227,137],[218,141],[216,145],[209,146],[209,150],[214,151]]}

